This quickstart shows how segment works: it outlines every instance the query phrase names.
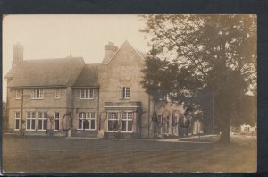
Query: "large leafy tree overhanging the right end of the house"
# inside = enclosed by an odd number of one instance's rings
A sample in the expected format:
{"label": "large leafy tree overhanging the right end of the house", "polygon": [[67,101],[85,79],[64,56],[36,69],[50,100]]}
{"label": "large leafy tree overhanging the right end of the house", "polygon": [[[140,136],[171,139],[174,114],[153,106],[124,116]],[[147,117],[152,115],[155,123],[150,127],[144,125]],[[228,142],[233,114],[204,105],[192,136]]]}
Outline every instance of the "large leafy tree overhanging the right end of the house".
{"label": "large leafy tree overhanging the right end of the house", "polygon": [[140,31],[152,46],[143,71],[147,93],[155,97],[155,90],[165,89],[158,100],[170,93],[172,103],[184,105],[199,93],[213,93],[214,126],[222,131],[221,141],[230,142],[230,118],[243,120],[238,105],[248,92],[256,94],[256,16],[142,17],[147,26]]}

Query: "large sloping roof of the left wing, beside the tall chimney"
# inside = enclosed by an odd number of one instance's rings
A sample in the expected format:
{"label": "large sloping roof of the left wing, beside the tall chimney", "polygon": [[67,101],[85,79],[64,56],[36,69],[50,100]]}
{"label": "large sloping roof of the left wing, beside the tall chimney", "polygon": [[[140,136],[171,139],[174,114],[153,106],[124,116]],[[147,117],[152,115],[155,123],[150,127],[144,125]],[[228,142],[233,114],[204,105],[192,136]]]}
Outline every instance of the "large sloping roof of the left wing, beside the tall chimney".
{"label": "large sloping roof of the left wing, beside the tall chimney", "polygon": [[85,65],[82,57],[24,60],[8,72],[8,87],[71,86]]}

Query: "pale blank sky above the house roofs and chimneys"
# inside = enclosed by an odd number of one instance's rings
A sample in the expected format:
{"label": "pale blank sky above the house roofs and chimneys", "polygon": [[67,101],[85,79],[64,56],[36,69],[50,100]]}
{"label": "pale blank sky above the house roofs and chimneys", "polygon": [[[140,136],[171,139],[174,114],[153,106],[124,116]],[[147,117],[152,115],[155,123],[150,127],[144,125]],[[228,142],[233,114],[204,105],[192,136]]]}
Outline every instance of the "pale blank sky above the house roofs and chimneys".
{"label": "pale blank sky above the house roofs and chimneys", "polygon": [[139,29],[145,27],[137,15],[7,15],[3,18],[3,100],[4,75],[11,69],[13,45],[24,46],[24,60],[81,56],[85,63],[101,63],[108,42],[121,46],[125,40],[148,52],[147,40]]}

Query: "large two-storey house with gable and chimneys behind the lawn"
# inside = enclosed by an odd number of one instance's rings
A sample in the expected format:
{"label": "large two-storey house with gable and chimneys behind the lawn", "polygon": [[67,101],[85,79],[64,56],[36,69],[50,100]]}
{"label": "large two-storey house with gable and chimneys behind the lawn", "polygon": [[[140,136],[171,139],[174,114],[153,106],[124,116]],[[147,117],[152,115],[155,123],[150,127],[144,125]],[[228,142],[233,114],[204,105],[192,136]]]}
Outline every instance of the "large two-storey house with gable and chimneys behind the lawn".
{"label": "large two-storey house with gable and chimneys behind the lawn", "polygon": [[140,84],[145,57],[128,41],[120,48],[105,45],[99,64],[71,55],[23,60],[23,46],[14,45],[13,66],[5,75],[9,129],[24,135],[105,138],[178,135],[180,126],[173,123],[179,120],[178,110],[166,116],[159,109],[152,118],[152,97]]}

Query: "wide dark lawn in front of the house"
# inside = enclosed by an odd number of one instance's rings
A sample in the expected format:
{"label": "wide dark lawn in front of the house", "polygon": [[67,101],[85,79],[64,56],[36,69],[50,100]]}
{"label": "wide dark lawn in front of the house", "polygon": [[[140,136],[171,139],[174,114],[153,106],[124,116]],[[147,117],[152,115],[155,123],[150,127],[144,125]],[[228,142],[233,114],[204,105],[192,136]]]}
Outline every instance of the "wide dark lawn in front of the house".
{"label": "wide dark lawn in front of the house", "polygon": [[4,172],[255,172],[256,140],[230,145],[155,139],[4,135]]}

